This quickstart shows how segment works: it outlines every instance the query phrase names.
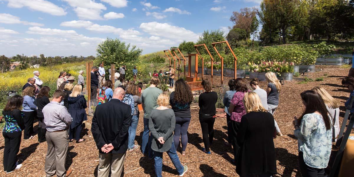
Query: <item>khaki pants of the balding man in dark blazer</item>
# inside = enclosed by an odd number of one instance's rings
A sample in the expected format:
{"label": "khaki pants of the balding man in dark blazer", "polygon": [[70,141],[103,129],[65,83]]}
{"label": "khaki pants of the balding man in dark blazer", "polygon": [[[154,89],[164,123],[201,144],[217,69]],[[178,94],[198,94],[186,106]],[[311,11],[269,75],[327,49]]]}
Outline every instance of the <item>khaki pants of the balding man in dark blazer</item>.
{"label": "khaki pants of the balding man in dark blazer", "polygon": [[111,176],[120,177],[123,172],[125,160],[124,154],[99,154],[98,176],[108,177],[109,169],[111,170]]}

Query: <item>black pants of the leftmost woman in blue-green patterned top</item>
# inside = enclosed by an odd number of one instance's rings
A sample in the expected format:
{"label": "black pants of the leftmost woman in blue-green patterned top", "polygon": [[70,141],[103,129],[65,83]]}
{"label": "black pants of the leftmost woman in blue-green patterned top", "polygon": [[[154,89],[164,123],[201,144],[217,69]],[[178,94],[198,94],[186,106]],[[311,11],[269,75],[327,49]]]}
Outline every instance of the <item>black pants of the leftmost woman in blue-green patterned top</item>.
{"label": "black pants of the leftmost woman in blue-green patterned top", "polygon": [[20,150],[22,131],[12,133],[2,132],[2,136],[4,136],[5,141],[3,159],[4,171],[10,172],[16,168],[16,155]]}

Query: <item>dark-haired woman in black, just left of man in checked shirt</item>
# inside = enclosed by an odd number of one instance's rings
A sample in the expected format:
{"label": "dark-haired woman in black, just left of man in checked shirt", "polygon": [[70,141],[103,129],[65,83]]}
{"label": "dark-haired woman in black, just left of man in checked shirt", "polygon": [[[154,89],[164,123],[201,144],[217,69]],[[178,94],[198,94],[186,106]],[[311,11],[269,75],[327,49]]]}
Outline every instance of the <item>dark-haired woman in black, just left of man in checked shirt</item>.
{"label": "dark-haired woman in black, just left of man in checked shirt", "polygon": [[37,96],[37,117],[38,117],[38,141],[41,142],[45,142],[46,138],[45,138],[45,133],[46,133],[46,126],[43,122],[44,119],[44,115],[42,113],[42,109],[45,107],[45,105],[47,105],[50,101],[49,101],[49,91],[50,88],[48,86],[44,86],[42,87],[41,91],[38,93]]}

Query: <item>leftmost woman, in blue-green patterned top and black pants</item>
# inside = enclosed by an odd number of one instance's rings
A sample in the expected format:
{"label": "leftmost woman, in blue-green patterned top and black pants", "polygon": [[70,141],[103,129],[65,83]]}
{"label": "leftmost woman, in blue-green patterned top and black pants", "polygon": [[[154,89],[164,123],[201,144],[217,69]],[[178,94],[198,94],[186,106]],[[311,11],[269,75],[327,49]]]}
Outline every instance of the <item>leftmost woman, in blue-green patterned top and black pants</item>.
{"label": "leftmost woman, in blue-green patterned top and black pants", "polygon": [[21,168],[22,164],[17,164],[16,155],[20,149],[22,130],[24,130],[23,117],[21,112],[23,97],[15,95],[11,97],[2,115],[4,115],[5,126],[2,130],[2,136],[4,136],[4,171],[10,173],[13,170]]}

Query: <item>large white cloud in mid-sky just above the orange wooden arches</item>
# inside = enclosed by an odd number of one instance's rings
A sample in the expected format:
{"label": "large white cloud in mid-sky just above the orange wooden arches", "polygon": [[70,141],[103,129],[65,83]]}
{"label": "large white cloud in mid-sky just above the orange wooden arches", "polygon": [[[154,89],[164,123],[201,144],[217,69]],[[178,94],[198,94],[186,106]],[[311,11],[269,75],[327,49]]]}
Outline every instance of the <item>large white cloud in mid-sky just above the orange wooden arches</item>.
{"label": "large white cloud in mid-sky just above the orange wooden arches", "polygon": [[173,26],[167,23],[158,23],[158,22],[150,22],[150,23],[142,23],[140,24],[140,29],[144,32],[147,32],[154,36],[162,36],[165,38],[183,40],[188,39],[191,41],[196,41],[199,37],[198,34],[195,34],[191,30],[187,30],[182,27]]}

